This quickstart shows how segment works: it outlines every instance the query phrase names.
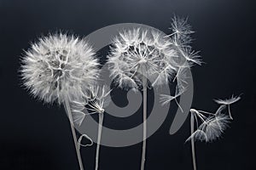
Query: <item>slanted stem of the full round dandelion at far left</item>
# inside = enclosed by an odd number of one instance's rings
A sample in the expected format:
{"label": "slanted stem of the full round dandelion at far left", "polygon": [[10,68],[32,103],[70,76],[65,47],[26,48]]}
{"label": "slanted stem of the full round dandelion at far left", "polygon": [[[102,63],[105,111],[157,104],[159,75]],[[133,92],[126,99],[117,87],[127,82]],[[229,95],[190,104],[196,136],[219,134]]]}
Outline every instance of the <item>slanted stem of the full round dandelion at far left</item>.
{"label": "slanted stem of the full round dandelion at far left", "polygon": [[67,100],[67,98],[64,101],[64,107],[67,111],[67,116],[68,116],[68,119],[69,119],[69,122],[70,122],[70,127],[71,127],[72,134],[73,134],[73,142],[75,144],[75,148],[76,148],[76,151],[77,151],[77,156],[78,156],[78,159],[79,159],[79,167],[80,167],[80,170],[84,170],[83,161],[82,161],[82,158],[81,158],[79,145],[78,145],[78,139],[77,139],[77,135],[76,135],[74,125],[73,125],[73,116],[71,114],[70,105],[69,105],[69,101]]}

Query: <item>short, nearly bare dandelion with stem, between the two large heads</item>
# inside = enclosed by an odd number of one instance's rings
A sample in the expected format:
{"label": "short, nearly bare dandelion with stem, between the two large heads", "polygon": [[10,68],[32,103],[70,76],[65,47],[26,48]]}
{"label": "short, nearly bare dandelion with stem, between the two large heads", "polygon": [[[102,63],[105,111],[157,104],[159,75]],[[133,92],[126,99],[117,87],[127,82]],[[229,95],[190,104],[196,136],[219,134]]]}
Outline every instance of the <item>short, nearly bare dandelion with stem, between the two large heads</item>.
{"label": "short, nearly bare dandelion with stem, between the two large heads", "polygon": [[105,108],[109,105],[110,102],[110,92],[106,85],[92,86],[90,89],[90,97],[89,102],[87,104],[87,110],[90,111],[91,114],[98,114],[99,116],[99,124],[98,124],[98,136],[97,136],[97,146],[96,146],[96,167],[97,170],[99,167],[99,155],[100,155],[100,145],[102,138],[102,124]]}

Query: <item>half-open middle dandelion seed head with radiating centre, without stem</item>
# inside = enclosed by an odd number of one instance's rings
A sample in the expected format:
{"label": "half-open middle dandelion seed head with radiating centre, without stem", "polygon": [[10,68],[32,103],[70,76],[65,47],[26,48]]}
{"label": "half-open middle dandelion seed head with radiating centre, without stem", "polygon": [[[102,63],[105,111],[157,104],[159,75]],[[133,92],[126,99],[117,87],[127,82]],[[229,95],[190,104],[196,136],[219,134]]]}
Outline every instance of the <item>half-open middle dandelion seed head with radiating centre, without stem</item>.
{"label": "half-open middle dandelion seed head with radiating centre, without stem", "polygon": [[160,32],[139,28],[123,31],[113,40],[108,55],[110,76],[120,88],[141,88],[143,77],[152,86],[160,85],[176,72],[177,66],[171,62],[175,57],[171,42]]}

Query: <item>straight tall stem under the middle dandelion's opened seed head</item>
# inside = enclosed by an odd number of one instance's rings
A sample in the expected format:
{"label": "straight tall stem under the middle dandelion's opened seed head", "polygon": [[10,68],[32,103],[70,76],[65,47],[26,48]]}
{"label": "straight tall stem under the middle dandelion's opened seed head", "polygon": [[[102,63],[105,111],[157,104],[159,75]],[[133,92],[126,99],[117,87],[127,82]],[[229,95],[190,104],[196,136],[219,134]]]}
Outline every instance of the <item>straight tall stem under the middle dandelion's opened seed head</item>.
{"label": "straight tall stem under the middle dandelion's opened seed head", "polygon": [[146,139],[147,139],[147,80],[143,81],[143,152],[141,170],[144,170],[146,161]]}

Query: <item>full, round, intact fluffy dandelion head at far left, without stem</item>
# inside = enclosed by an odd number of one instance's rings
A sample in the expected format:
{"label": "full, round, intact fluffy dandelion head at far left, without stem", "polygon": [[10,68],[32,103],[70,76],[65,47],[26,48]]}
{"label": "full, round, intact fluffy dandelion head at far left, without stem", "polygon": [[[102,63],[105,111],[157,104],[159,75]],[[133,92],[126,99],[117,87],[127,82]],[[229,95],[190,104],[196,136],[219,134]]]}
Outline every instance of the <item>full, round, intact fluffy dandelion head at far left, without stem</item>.
{"label": "full, round, intact fluffy dandelion head at far left, without stem", "polygon": [[82,99],[99,74],[94,50],[67,34],[39,38],[21,60],[24,85],[45,103]]}

